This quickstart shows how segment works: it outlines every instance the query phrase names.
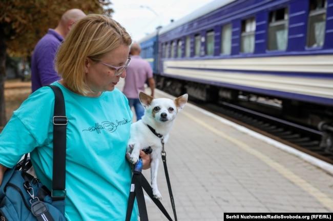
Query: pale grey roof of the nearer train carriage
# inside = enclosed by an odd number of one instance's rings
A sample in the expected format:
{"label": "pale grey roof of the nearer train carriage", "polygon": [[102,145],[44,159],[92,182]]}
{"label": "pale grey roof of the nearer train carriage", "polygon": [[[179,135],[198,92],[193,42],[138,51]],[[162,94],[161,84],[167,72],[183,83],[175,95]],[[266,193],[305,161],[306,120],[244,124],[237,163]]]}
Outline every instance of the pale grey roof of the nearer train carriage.
{"label": "pale grey roof of the nearer train carriage", "polygon": [[[184,23],[187,23],[189,21],[192,21],[198,17],[201,17],[205,14],[208,14],[216,9],[219,9],[229,3],[235,2],[236,0],[215,0],[199,9],[197,9],[196,11],[194,11],[193,13],[186,15],[182,18],[180,18],[179,20],[176,20],[174,22],[172,22],[171,24],[168,24],[168,26],[165,26],[164,28],[162,28],[159,32],[159,34],[163,34],[165,32],[168,32],[172,29],[177,28],[178,26],[181,26]],[[155,32],[156,34],[156,32]]]}

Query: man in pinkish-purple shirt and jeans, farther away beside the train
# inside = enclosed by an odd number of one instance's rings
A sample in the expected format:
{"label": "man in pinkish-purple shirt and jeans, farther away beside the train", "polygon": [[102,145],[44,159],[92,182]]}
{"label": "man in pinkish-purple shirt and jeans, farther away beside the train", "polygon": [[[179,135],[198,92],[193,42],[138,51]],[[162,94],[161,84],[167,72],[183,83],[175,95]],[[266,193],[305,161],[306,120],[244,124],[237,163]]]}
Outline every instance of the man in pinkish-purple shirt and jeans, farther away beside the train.
{"label": "man in pinkish-purple shirt and jeans, farther away beside the train", "polygon": [[155,81],[150,64],[140,57],[141,48],[138,43],[131,45],[131,63],[126,69],[125,85],[122,92],[127,96],[129,105],[134,106],[136,120],[141,119],[144,108],[139,100],[139,91],[144,91],[144,84],[148,80],[151,96],[154,96]]}

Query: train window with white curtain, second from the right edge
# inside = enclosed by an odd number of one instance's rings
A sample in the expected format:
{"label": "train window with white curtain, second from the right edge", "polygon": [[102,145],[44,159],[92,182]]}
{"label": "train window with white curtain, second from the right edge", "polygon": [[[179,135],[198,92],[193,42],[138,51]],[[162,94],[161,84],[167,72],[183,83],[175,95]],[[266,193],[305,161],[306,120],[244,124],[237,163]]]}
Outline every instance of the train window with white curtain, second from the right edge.
{"label": "train window with white curtain, second from the right edge", "polygon": [[288,44],[288,9],[269,13],[268,50],[286,50]]}

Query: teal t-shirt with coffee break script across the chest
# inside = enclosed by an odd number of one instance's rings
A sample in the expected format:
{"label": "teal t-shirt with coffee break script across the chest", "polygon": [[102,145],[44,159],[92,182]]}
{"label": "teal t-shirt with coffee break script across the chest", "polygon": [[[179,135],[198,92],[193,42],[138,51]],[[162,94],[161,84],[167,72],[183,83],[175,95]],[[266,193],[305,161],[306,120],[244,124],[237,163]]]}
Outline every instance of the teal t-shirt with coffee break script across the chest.
{"label": "teal t-shirt with coffee break script across the chest", "polygon": [[[126,145],[132,112],[118,89],[81,96],[58,82],[65,97],[67,126],[66,207],[69,221],[125,220],[131,186]],[[38,179],[51,189],[54,93],[42,87],[13,113],[0,134],[0,164],[13,167],[25,153]],[[137,220],[137,207],[132,221]]]}

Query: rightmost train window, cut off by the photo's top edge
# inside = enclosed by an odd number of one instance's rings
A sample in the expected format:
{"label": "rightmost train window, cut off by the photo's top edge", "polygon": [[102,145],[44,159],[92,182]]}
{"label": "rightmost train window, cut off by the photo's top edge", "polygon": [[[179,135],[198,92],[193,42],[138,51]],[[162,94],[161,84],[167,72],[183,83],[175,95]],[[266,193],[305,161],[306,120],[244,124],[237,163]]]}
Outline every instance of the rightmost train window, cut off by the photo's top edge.
{"label": "rightmost train window, cut off by the photo's top edge", "polygon": [[326,0],[310,0],[306,42],[308,47],[320,47],[324,44],[326,4]]}

